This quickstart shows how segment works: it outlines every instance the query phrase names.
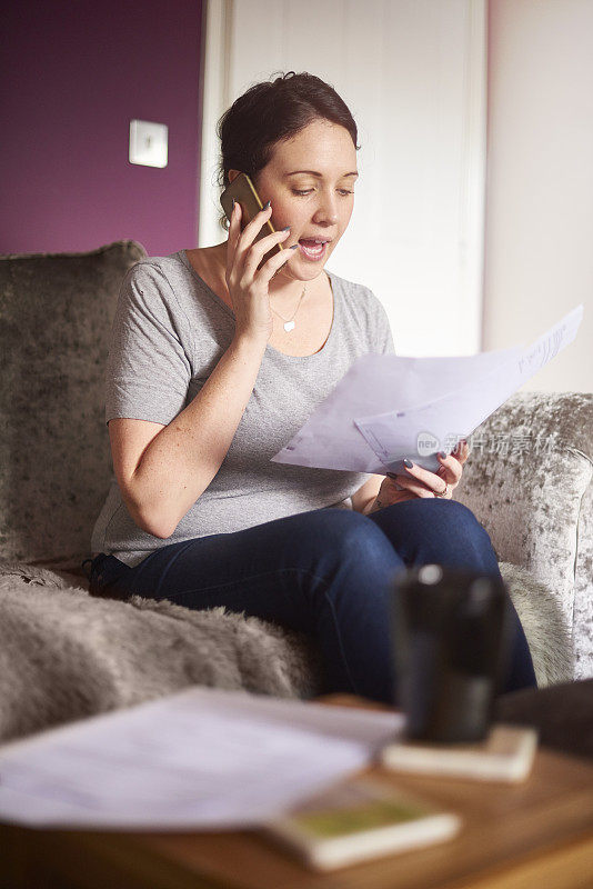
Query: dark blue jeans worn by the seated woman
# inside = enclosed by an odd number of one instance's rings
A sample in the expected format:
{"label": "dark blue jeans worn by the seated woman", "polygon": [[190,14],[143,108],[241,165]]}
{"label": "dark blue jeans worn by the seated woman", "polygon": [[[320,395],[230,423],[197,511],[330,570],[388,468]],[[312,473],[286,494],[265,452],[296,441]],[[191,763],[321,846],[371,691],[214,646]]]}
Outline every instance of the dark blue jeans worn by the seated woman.
{"label": "dark blue jeans worn by the seated woman", "polygon": [[[231,533],[171,543],[134,568],[100,553],[90,591],[137,593],[185,608],[224,606],[315,638],[324,692],[394,703],[390,597],[408,566],[436,562],[500,578],[486,530],[455,500],[414,498],[370,516],[316,509]],[[512,627],[501,691],[536,686],[531,655],[507,598]]]}

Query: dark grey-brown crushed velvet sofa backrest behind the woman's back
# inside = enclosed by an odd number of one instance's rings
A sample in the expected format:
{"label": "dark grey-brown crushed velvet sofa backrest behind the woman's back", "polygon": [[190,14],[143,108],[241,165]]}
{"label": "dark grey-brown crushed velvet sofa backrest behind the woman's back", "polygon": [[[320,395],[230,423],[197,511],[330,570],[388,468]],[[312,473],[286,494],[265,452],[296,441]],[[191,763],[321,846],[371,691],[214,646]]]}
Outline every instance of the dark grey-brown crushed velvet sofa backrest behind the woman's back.
{"label": "dark grey-brown crushed velvet sofa backrest behind the woman's back", "polygon": [[104,369],[135,241],[0,257],[0,556],[74,568],[112,471]]}

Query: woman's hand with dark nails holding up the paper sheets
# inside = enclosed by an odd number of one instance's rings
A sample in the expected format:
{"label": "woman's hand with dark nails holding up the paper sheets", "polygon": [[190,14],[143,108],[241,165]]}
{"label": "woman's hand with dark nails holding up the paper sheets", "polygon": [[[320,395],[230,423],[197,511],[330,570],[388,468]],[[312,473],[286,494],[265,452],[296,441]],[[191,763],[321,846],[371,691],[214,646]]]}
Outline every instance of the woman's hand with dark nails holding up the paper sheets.
{"label": "woman's hand with dark nails holding up the paper sheets", "polygon": [[445,482],[449,485],[449,492],[442,499],[450,500],[453,488],[456,488],[460,482],[463,463],[469,455],[468,442],[462,439],[449,457],[436,455],[441,463],[436,472],[422,469],[413,463],[411,468],[405,468],[409,475],[385,476],[369,512],[375,512],[378,509],[390,507],[393,503],[402,503],[404,500],[413,500],[416,497],[439,497],[445,490]]}

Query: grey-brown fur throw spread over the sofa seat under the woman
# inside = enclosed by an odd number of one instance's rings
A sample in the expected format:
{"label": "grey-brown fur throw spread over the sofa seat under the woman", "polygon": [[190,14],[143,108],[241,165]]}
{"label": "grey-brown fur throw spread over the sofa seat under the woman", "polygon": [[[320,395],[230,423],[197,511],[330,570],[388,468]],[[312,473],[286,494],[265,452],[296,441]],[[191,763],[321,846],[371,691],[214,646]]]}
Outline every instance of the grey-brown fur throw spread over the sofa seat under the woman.
{"label": "grey-brown fur throw spread over the sofa seat under the woman", "polygon": [[[572,679],[570,632],[550,590],[501,563],[539,686]],[[224,608],[91,597],[80,577],[0,563],[0,742],[190,685],[282,698],[320,692],[313,641]]]}

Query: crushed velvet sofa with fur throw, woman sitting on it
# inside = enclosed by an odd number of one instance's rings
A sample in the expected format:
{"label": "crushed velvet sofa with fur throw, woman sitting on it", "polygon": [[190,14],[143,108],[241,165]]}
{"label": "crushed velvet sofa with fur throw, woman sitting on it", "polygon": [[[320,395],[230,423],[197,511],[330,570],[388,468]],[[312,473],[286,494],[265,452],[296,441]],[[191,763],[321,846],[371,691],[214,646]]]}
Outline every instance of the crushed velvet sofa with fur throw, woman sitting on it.
{"label": "crushed velvet sofa with fur throw, woman sitting on it", "polygon": [[[121,240],[0,257],[0,742],[200,683],[320,689],[314,641],[223,608],[89,595],[113,473],[103,383]],[[540,332],[532,331],[534,334]],[[474,431],[455,499],[490,533],[541,688],[593,676],[593,393],[514,394]]]}

